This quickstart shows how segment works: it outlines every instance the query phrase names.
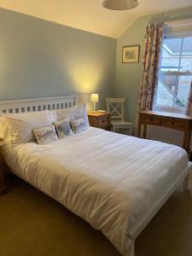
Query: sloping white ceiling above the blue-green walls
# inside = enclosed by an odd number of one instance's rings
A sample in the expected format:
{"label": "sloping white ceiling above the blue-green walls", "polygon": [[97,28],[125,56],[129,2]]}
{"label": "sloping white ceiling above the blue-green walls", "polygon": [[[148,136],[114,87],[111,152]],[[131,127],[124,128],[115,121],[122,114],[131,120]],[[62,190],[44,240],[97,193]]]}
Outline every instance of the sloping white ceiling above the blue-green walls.
{"label": "sloping white ceiling above the blue-green walls", "polygon": [[136,9],[113,11],[104,9],[102,1],[0,0],[0,7],[118,38],[138,17],[192,6],[191,0],[138,0]]}

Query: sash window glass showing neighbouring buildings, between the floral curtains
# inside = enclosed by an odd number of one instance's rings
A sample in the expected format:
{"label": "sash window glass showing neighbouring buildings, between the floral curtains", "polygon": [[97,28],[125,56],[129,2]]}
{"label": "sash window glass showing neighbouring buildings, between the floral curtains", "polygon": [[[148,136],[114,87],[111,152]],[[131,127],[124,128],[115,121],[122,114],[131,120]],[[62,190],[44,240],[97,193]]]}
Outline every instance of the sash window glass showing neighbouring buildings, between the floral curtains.
{"label": "sash window glass showing neighbouring buildings, between the floral curtains", "polygon": [[192,80],[192,34],[164,37],[154,109],[184,112]]}

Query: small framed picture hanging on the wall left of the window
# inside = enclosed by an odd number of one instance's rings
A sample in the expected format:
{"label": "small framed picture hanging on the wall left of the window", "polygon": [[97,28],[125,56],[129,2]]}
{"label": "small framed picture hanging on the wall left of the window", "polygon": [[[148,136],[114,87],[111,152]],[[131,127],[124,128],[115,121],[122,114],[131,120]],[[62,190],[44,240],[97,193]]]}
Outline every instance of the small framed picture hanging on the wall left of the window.
{"label": "small framed picture hanging on the wall left of the window", "polygon": [[140,45],[126,45],[123,47],[122,62],[137,63],[139,62]]}

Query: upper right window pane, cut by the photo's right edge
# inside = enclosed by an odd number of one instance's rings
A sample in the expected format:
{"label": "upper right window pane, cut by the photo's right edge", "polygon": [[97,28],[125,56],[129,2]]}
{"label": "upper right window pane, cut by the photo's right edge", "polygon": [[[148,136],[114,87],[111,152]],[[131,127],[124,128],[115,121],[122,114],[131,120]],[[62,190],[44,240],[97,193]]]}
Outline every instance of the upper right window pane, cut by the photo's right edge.
{"label": "upper right window pane, cut by the photo's right edge", "polygon": [[192,37],[183,38],[183,49],[180,70],[183,72],[192,72]]}

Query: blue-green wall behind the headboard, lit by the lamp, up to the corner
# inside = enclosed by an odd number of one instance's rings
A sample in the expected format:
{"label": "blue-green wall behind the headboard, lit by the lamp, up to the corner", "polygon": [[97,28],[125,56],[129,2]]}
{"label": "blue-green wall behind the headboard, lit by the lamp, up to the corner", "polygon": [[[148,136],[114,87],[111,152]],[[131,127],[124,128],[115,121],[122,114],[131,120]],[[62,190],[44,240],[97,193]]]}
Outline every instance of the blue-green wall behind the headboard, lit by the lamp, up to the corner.
{"label": "blue-green wall behind the headboard, lit by the lamp, up to the corner", "polygon": [[104,102],[114,92],[116,43],[0,9],[0,99],[73,94],[88,99],[98,92]]}

